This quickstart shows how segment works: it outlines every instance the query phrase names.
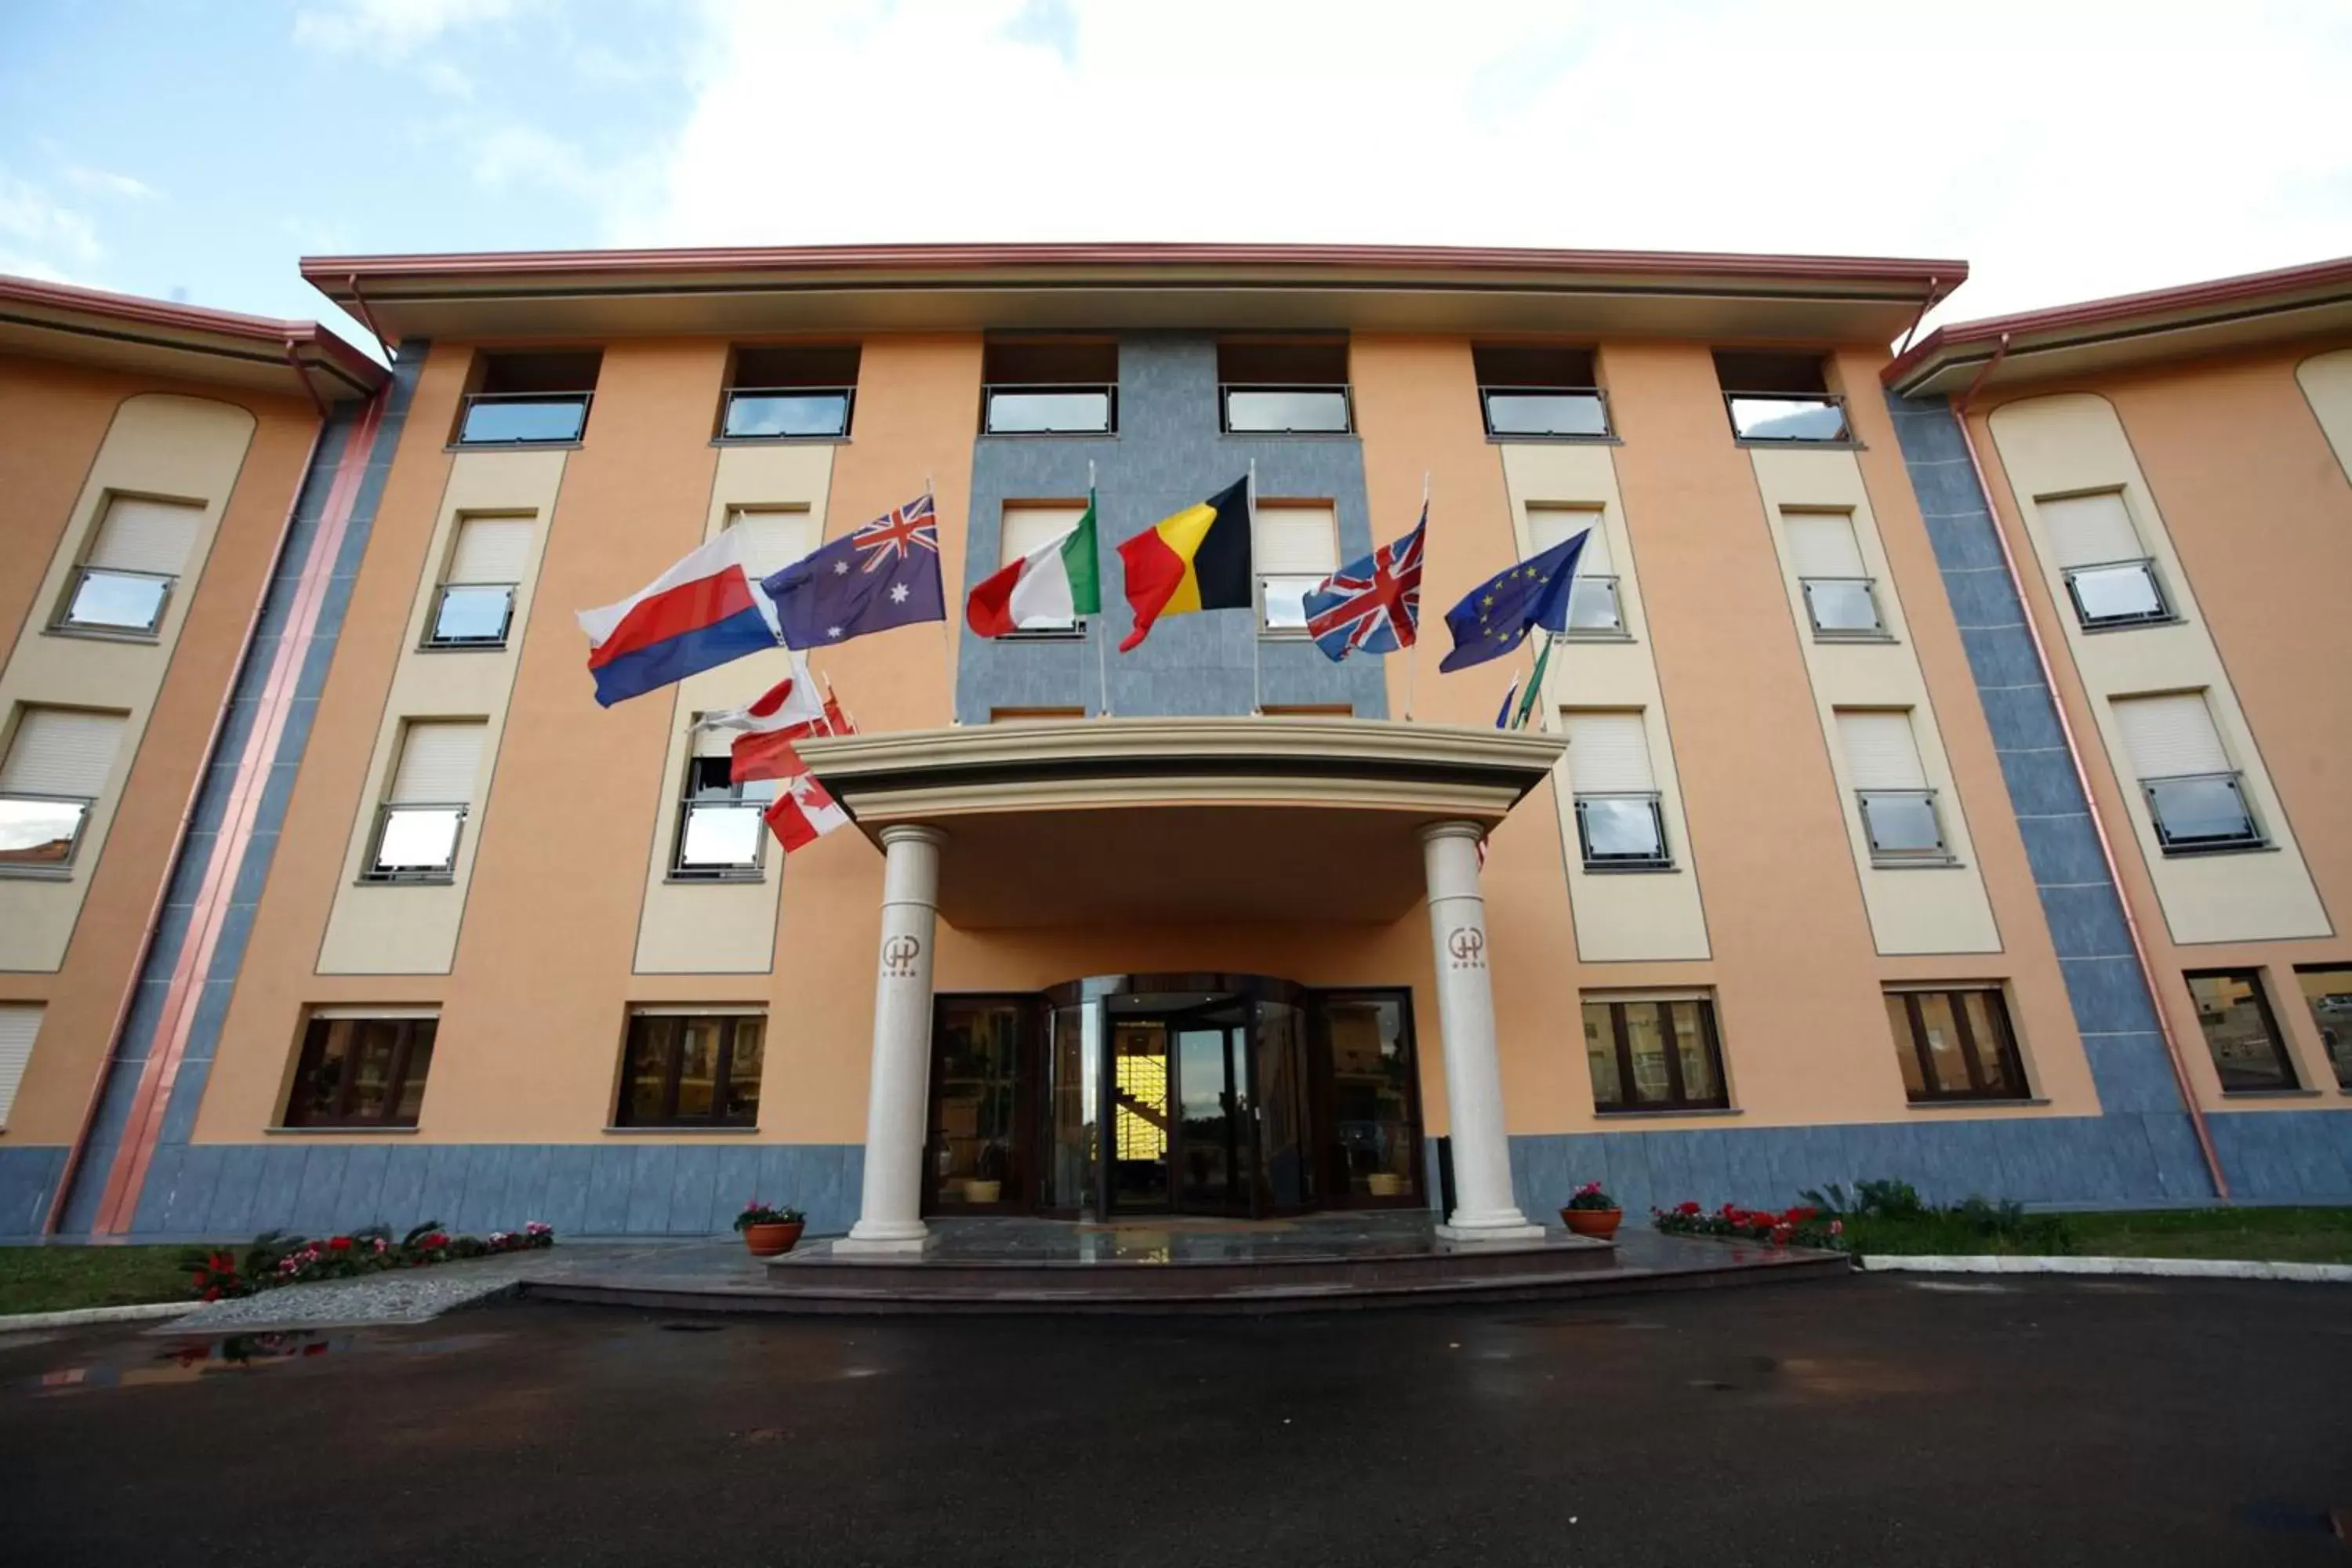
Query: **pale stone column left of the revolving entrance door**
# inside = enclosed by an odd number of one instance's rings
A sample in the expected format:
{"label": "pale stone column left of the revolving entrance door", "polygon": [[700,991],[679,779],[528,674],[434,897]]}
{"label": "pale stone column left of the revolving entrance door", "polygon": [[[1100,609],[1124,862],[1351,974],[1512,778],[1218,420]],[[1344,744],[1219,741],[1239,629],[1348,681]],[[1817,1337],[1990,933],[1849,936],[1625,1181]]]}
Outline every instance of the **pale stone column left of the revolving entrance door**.
{"label": "pale stone column left of the revolving entrance door", "polygon": [[931,1084],[931,936],[938,827],[882,830],[882,945],[875,954],[875,1056],[866,1086],[866,1187],[835,1253],[920,1253],[924,1098]]}

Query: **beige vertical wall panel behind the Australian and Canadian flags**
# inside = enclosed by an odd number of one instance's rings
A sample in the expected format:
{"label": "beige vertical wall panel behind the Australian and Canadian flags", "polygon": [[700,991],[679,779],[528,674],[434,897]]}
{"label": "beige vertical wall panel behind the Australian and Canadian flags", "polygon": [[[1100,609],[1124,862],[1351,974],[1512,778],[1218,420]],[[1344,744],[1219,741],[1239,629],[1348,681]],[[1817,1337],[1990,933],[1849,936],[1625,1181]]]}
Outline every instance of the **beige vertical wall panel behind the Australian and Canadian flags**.
{"label": "beige vertical wall panel behind the Australian and Canadian flags", "polygon": [[[830,480],[830,444],[722,447],[703,538],[717,538],[731,505],[800,505],[807,508],[809,548],[816,548]],[[661,764],[663,795],[654,809],[654,851],[644,867],[644,912],[637,917],[637,973],[769,971],[776,954],[776,900],[786,877],[783,849],[774,839],[767,844],[757,882],[670,882],[668,870],[694,715],[741,708],[790,672],[790,656],[779,649],[677,684],[670,750]]]}

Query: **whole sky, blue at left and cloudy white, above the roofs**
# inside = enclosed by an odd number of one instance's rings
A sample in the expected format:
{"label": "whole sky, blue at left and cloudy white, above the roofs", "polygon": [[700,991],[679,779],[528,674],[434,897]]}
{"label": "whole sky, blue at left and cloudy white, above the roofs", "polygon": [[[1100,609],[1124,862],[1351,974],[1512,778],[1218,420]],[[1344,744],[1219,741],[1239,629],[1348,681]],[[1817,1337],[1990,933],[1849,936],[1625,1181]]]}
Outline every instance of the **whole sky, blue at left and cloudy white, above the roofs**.
{"label": "whole sky, blue at left and cloudy white, above the roofs", "polygon": [[2352,254],[2352,5],[0,0],[0,273],[1294,240],[1957,256],[1931,320]]}

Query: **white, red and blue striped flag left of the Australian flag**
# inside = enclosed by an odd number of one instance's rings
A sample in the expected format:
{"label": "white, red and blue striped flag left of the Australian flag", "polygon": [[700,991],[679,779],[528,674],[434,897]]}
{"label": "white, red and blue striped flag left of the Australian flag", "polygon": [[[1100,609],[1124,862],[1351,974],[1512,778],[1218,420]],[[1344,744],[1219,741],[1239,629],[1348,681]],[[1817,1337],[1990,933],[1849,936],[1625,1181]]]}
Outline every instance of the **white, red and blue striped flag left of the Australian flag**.
{"label": "white, red and blue striped flag left of the Australian flag", "polygon": [[779,642],[774,609],[743,571],[734,529],[619,604],[579,611],[579,623],[604,708]]}

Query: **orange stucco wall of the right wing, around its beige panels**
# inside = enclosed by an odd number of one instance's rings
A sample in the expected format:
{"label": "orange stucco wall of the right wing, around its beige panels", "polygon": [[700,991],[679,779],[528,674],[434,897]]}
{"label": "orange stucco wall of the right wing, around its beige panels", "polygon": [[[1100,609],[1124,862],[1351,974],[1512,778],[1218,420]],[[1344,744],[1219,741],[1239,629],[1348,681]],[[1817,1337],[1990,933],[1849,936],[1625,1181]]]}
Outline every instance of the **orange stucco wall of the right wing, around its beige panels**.
{"label": "orange stucco wall of the right wing, around its beige panels", "polygon": [[[2352,590],[2352,482],[2296,383],[2296,364],[2338,346],[2305,343],[2096,381],[2004,388],[1969,409],[1994,515],[2020,562],[2027,609],[2051,651],[2053,679],[2107,823],[2161,1006],[2183,1046],[2199,1103],[2213,1107],[2225,1098],[2180,978],[2187,969],[2267,966],[2272,1011],[2296,1051],[2303,1084],[2319,1086],[2326,1095],[2338,1093],[2293,980],[2296,964],[2352,964],[2352,940],[2345,936],[2345,912],[2352,910],[2352,813],[2345,813],[2352,773],[2343,762],[2343,736],[2352,733],[2352,686],[2343,679],[2352,670],[2352,623],[2343,614],[2345,592]],[[2197,945],[2171,940],[2147,863],[2124,825],[2124,792],[2136,783],[2117,778],[2098,745],[2089,696],[2065,656],[2063,628],[2072,611],[2051,599],[2030,567],[2034,552],[1990,433],[1990,416],[2004,402],[2053,393],[2093,393],[2114,407],[2336,936]],[[2230,1098],[2227,1105],[2286,1110],[2307,1103]]]}

